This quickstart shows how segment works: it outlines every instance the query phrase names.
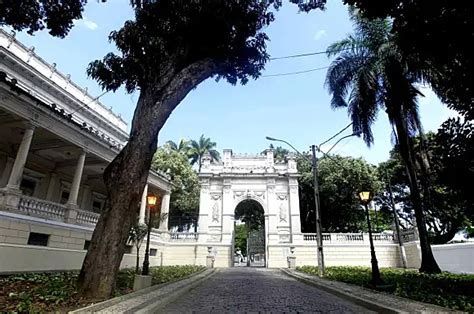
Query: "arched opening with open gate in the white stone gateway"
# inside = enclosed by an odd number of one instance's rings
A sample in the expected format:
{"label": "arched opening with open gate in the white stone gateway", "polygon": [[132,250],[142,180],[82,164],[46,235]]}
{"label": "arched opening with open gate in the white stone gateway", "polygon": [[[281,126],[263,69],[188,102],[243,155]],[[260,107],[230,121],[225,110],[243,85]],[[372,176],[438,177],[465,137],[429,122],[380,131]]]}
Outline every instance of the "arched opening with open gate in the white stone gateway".
{"label": "arched opening with open gate in the white stone gateway", "polygon": [[244,199],[235,207],[233,252],[234,266],[265,266],[265,211],[253,199]]}

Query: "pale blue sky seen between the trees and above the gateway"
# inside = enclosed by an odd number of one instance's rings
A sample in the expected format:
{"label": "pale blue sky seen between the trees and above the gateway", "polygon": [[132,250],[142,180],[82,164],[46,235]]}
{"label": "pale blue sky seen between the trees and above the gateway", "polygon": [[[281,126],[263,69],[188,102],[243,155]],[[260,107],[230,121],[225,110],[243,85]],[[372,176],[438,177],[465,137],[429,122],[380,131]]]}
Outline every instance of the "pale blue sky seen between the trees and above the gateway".
{"label": "pale blue sky seen between the trees and above the gateway", "polygon": [[[18,33],[17,38],[58,71],[71,74],[78,85],[87,87],[93,96],[102,90],[89,79],[89,62],[101,59],[115,47],[108,34],[133,18],[129,1],[90,1],[64,39],[51,37],[46,31],[33,36]],[[276,21],[266,29],[270,37],[268,53],[280,57],[324,51],[334,41],[352,32],[347,8],[342,1],[329,1],[325,11],[299,13],[294,5],[285,3],[276,14]],[[212,36],[212,34],[209,34]],[[330,95],[324,88],[326,69],[299,75],[268,76],[326,67],[331,60],[325,55],[270,61],[262,77],[245,86],[232,86],[210,78],[192,90],[172,113],[159,135],[159,144],[181,138],[198,139],[201,134],[217,143],[217,149],[231,148],[236,153],[259,153],[270,144],[266,136],[284,139],[300,151],[318,145],[350,123],[343,109],[332,110]],[[421,121],[425,131],[436,131],[448,117],[455,116],[427,87],[419,100]],[[101,102],[113,108],[129,123],[133,117],[138,94],[123,89],[107,93]],[[348,135],[347,130],[341,136]],[[368,148],[362,139],[350,137],[339,142],[332,153],[363,157],[377,164],[386,160],[392,148],[391,127],[386,114],[380,112],[373,126],[375,143]],[[322,146],[327,151],[333,142]],[[274,143],[277,144],[278,143]],[[284,146],[284,144],[282,145]]]}

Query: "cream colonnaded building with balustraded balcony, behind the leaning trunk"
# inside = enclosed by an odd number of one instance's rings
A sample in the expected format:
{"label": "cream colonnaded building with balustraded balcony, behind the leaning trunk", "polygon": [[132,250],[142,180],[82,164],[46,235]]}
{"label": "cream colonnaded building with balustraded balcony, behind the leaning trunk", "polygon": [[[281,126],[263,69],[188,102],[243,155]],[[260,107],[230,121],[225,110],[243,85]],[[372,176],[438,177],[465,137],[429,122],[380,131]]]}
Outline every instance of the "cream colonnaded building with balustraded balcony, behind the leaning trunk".
{"label": "cream colonnaded building with balustraded balcony, behind the leaning trunk", "polygon": [[[80,268],[104,208],[104,169],[127,139],[120,115],[0,30],[0,272]],[[159,195],[163,213],[170,191],[150,172],[144,197]]]}

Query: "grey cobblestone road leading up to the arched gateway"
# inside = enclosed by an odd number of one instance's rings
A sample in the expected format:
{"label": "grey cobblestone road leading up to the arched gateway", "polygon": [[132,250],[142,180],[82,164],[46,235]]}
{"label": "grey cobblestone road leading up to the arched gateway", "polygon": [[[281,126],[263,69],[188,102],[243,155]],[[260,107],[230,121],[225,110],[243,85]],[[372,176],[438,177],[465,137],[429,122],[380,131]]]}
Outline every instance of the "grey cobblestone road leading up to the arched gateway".
{"label": "grey cobblestone road leading up to the arched gateway", "polygon": [[279,270],[227,268],[159,310],[160,313],[370,313]]}

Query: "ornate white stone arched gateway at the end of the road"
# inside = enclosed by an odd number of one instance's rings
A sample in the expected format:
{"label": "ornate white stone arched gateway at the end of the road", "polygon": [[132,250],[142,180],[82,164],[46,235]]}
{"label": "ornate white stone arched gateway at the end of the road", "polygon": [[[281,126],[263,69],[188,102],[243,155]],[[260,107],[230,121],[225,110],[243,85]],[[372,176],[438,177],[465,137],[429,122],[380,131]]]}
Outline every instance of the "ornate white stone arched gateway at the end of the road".
{"label": "ornate white stone arched gateway at the end of the road", "polygon": [[265,266],[286,266],[290,248],[302,241],[296,160],[275,162],[271,149],[254,156],[225,149],[220,162],[203,158],[199,178],[199,242],[216,265],[233,265],[236,208],[253,200],[264,211]]}

